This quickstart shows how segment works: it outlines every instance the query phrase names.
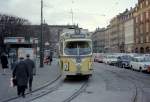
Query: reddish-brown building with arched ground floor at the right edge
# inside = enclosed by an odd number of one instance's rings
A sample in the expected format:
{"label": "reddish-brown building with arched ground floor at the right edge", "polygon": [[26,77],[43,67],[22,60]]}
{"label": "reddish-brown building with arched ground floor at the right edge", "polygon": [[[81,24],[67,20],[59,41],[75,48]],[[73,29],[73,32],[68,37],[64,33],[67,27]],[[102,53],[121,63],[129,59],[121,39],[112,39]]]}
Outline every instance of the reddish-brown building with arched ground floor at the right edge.
{"label": "reddish-brown building with arched ground floor at the right edge", "polygon": [[134,52],[150,53],[150,0],[138,0],[134,23]]}

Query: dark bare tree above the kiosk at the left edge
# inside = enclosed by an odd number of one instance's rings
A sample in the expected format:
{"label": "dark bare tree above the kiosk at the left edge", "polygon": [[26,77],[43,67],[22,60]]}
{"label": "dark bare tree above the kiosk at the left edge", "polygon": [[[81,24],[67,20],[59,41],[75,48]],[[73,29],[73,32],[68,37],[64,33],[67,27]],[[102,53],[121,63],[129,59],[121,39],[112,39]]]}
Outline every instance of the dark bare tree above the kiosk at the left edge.
{"label": "dark bare tree above the kiosk at the left edge", "polygon": [[[26,32],[24,26],[26,25],[30,25],[27,19],[0,14],[0,49],[4,49],[4,37],[16,36],[19,33],[24,34],[24,32]],[[0,53],[1,52],[2,51],[0,51]]]}

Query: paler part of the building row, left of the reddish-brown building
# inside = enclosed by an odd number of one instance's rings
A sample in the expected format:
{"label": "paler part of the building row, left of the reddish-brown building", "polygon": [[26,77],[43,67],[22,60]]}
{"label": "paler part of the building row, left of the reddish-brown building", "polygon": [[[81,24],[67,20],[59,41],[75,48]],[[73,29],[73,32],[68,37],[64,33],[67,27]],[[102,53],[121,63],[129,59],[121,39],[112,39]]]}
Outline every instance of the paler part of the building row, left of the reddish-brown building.
{"label": "paler part of the building row, left of the reddish-brown building", "polygon": [[[134,22],[133,9],[126,9],[123,13],[111,19],[110,24],[105,30],[99,31],[101,34],[95,34],[95,47],[100,48],[104,37],[104,52],[124,53],[133,52],[134,44]],[[102,43],[103,45],[103,43]]]}

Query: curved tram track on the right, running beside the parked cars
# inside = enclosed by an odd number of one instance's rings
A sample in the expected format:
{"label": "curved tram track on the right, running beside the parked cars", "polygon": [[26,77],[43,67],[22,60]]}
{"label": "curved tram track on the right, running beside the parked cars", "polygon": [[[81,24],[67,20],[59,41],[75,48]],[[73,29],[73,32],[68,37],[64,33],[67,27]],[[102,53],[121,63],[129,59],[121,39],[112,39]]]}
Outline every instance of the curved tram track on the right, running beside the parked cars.
{"label": "curved tram track on the right, running beside the parked cars", "polygon": [[[112,68],[114,69],[115,67],[112,67]],[[129,80],[130,82],[133,83],[134,95],[133,95],[131,102],[149,102],[149,98],[145,97],[145,90],[144,90],[145,87],[150,88],[149,87],[150,82],[148,80],[149,75],[146,75],[146,74],[144,75],[144,73],[142,75],[142,73],[139,73],[139,72],[135,73],[127,69],[122,69],[119,72],[116,72],[115,70],[108,70],[108,69],[107,71],[112,72],[118,75],[118,77],[122,77],[125,80]],[[141,74],[141,75],[138,75],[138,74]]]}

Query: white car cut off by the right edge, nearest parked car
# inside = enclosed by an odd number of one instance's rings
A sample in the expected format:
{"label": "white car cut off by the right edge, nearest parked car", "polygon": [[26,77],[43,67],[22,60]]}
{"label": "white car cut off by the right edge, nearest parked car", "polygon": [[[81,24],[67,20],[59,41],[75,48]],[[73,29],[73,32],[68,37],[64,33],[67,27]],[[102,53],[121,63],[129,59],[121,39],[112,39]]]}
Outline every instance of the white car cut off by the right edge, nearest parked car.
{"label": "white car cut off by the right edge, nearest parked car", "polygon": [[134,57],[130,62],[130,67],[133,70],[150,72],[150,58],[149,57]]}

